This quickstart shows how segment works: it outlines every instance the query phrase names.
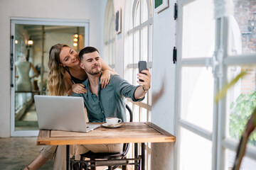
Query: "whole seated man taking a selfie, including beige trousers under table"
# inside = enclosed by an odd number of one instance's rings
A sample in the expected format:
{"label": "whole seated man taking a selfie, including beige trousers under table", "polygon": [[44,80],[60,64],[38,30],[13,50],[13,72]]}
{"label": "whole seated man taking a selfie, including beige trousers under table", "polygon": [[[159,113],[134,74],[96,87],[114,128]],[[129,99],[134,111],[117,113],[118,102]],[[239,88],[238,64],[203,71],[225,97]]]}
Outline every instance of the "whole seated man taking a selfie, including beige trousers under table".
{"label": "whole seated man taking a selfie, including beige trousers under table", "polygon": [[[142,86],[133,86],[118,75],[111,75],[109,84],[100,88],[100,76],[102,64],[100,54],[95,47],[85,47],[79,53],[80,67],[87,73],[88,79],[82,84],[85,85],[87,93],[75,94],[84,98],[85,107],[89,122],[105,122],[107,117],[117,117],[125,121],[124,97],[132,98],[133,101],[142,101],[146,91],[150,88],[151,75],[148,70],[142,71],[145,74],[137,74],[138,81]],[[112,145],[72,145],[70,146],[70,157],[85,152],[120,152],[122,144]],[[54,169],[65,169],[65,146],[58,146],[55,156]]]}

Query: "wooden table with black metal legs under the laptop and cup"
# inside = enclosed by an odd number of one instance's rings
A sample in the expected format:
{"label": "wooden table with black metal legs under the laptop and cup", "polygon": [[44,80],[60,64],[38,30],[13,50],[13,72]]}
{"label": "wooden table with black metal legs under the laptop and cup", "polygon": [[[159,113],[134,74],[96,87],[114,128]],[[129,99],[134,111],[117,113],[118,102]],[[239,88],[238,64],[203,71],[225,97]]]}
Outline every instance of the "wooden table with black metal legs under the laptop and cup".
{"label": "wooden table with black metal legs under the laptop and cup", "polygon": [[[91,132],[66,132],[57,130],[40,130],[37,145],[69,145],[142,143],[142,169],[144,169],[145,142],[175,142],[174,135],[159,128],[154,123],[123,123],[120,128],[97,128]],[[137,151],[135,151],[137,152]],[[70,162],[67,161],[67,169]]]}

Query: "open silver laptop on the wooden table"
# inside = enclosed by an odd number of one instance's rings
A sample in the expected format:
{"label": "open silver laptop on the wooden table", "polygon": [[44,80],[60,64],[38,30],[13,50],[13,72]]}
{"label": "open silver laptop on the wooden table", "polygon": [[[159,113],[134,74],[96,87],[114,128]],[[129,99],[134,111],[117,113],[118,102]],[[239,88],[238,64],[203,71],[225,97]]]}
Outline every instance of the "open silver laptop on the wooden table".
{"label": "open silver laptop on the wooden table", "polygon": [[34,99],[39,129],[90,132],[100,127],[86,123],[82,97],[35,95]]}

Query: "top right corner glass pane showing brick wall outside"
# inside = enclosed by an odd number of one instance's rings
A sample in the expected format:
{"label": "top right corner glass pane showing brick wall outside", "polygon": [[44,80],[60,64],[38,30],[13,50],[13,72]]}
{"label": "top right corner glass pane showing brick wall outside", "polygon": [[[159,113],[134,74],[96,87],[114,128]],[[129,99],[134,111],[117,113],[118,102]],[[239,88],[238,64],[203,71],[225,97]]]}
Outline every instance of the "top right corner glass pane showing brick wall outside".
{"label": "top right corner glass pane showing brick wall outside", "polygon": [[[234,1],[235,20],[231,21],[230,27],[233,32],[233,41],[230,40],[231,55],[254,53],[256,51],[256,4],[255,1]],[[235,38],[236,37],[236,38]],[[237,39],[238,38],[238,39]],[[239,45],[239,47],[238,47]],[[234,48],[240,48],[237,51]]]}

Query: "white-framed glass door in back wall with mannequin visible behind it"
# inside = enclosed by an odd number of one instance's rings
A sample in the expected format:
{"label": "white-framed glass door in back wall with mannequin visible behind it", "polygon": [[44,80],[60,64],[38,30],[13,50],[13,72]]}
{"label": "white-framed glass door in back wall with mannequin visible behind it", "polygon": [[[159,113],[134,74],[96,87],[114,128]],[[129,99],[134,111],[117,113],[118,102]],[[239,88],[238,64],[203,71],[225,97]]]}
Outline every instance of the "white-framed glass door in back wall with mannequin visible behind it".
{"label": "white-framed glass door in back wall with mannequin visible behind it", "polygon": [[38,135],[34,95],[47,95],[48,52],[64,43],[78,51],[88,45],[87,21],[11,19],[14,72],[11,84],[11,136]]}

